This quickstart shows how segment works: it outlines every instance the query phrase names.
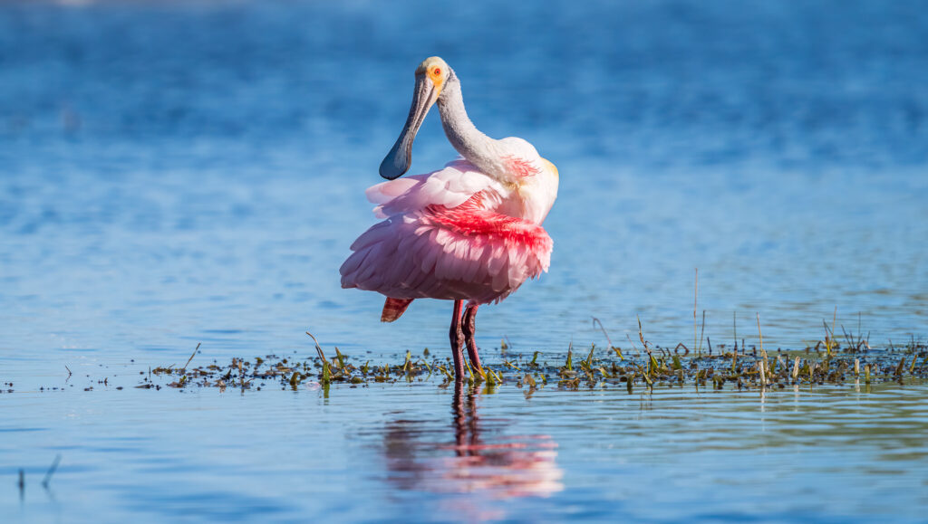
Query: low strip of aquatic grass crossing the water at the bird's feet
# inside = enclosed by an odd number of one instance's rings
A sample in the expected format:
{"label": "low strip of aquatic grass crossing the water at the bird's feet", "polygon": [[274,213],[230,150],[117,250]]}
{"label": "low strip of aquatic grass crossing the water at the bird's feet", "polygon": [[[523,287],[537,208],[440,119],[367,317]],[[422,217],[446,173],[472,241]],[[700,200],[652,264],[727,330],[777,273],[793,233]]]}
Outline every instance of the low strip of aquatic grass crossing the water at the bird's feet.
{"label": "low strip of aquatic grass crossing the water at the bird's feet", "polygon": [[[643,329],[642,329],[643,339]],[[650,347],[650,343],[648,344]],[[655,348],[655,350],[657,350]],[[558,385],[564,390],[578,390],[585,388],[609,388],[623,385],[626,390],[634,390],[636,382],[644,384],[647,390],[653,390],[660,384],[670,387],[679,387],[690,384],[702,388],[708,382],[714,390],[725,389],[727,385],[736,389],[769,389],[782,388],[787,384],[832,384],[839,385],[850,377],[859,377],[860,366],[863,365],[865,381],[870,383],[874,377],[886,380],[898,380],[902,377],[924,378],[928,377],[928,369],[921,364],[924,356],[893,358],[891,353],[885,355],[868,355],[869,362],[861,362],[856,355],[837,353],[823,354],[819,360],[803,360],[800,356],[793,356],[792,368],[782,364],[782,356],[778,354],[773,358],[763,351],[755,355],[743,354],[731,365],[729,353],[716,355],[703,355],[702,357],[686,357],[681,354],[658,355],[655,350],[642,358],[620,360],[612,353],[598,356],[595,345],[587,352],[583,360],[574,362],[573,346],[569,346],[568,355],[561,365],[552,368],[547,364],[539,364],[535,352],[523,355],[513,353],[509,355],[504,364],[489,364],[484,366],[484,377],[479,377],[472,367],[468,367],[468,381],[470,383],[485,382],[488,387],[499,387],[511,379],[513,384],[525,387],[530,381],[524,377],[529,375],[535,381],[535,388],[548,382],[547,376],[553,374],[559,377]],[[662,350],[665,351],[665,350]],[[383,364],[375,367],[369,362],[356,367],[351,364],[346,355],[342,355],[342,362],[337,357],[327,359],[323,351],[316,351],[315,357],[303,362],[284,362],[274,355],[264,357],[264,364],[249,367],[244,359],[236,358],[229,366],[202,366],[190,370],[189,377],[200,377],[198,380],[187,380],[182,387],[226,387],[238,386],[247,389],[251,382],[277,378],[285,388],[299,389],[305,378],[312,376],[308,370],[316,369],[318,384],[325,387],[337,383],[345,383],[351,387],[364,386],[370,382],[395,383],[428,382],[432,380],[432,372],[440,371],[442,382],[447,385],[453,382],[453,374],[445,362],[437,359],[412,359],[411,351],[404,351],[398,364]],[[767,354],[765,354],[767,353]],[[888,359],[893,358],[890,364]],[[255,359],[256,360],[256,359]],[[526,374],[522,370],[535,361],[532,366],[533,374]],[[913,361],[916,363],[912,365]],[[702,364],[705,364],[704,366]],[[725,364],[723,364],[725,363]],[[211,364],[212,365],[212,364]],[[874,372],[876,367],[886,369],[883,375]],[[365,372],[362,372],[364,368]],[[235,373],[232,374],[231,371]],[[164,377],[152,370],[153,379]],[[513,374],[515,377],[513,377]],[[535,377],[536,374],[536,377]],[[884,378],[883,378],[884,377]],[[261,383],[264,385],[264,382]]]}

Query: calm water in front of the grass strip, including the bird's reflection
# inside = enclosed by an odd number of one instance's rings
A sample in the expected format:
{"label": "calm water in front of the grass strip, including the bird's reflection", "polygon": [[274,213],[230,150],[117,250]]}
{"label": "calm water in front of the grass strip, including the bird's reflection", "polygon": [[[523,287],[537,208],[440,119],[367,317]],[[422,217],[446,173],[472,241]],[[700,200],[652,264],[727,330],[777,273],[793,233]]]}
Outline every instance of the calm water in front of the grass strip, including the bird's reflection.
{"label": "calm water in front of the grass strip, including the bird's reflection", "polygon": [[926,392],[20,391],[0,504],[62,521],[918,521]]}

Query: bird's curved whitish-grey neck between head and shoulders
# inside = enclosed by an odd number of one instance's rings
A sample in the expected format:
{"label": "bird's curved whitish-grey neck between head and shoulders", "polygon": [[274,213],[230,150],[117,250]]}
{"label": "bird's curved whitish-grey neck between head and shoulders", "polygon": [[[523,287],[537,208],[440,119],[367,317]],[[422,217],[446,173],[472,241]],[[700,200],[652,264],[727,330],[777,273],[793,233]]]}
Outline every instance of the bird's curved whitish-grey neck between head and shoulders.
{"label": "bird's curved whitish-grey neck between head and shoulders", "polygon": [[438,98],[438,110],[445,135],[458,153],[484,173],[494,171],[498,162],[494,155],[496,140],[481,133],[468,118],[461,84],[453,73],[445,81],[442,96]]}

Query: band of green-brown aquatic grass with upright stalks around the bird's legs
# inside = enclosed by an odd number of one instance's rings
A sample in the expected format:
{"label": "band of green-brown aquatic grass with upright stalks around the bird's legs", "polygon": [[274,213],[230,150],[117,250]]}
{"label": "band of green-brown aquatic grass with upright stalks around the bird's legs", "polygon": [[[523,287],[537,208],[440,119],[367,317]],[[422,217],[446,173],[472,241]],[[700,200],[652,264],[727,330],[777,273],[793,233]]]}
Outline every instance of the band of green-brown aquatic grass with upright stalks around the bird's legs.
{"label": "band of green-brown aquatic grass with upright stalks around the bird's legs", "polygon": [[[828,342],[822,341],[825,351],[810,352],[806,347],[805,359],[802,351],[782,351],[776,353],[767,348],[760,322],[760,314],[755,314],[757,323],[758,348],[747,351],[741,343],[732,348],[719,346],[721,351],[709,351],[701,354],[689,349],[682,343],[673,350],[652,345],[644,336],[644,327],[640,317],[638,321],[638,340],[644,351],[638,356],[624,355],[621,351],[597,351],[591,343],[582,359],[574,361],[574,344],[569,342],[564,360],[559,364],[549,365],[539,358],[542,351],[507,351],[494,364],[484,364],[483,376],[480,376],[468,362],[466,380],[470,384],[485,383],[485,387],[495,390],[504,384],[535,390],[548,384],[548,376],[556,377],[561,390],[610,389],[621,386],[634,391],[636,382],[644,385],[646,390],[659,387],[684,387],[690,385],[697,390],[711,385],[713,390],[734,388],[738,390],[782,389],[787,385],[831,385],[838,386],[848,380],[859,380],[863,375],[867,384],[882,381],[903,381],[928,378],[928,347],[910,337],[904,347],[890,345],[885,350],[874,350],[870,344],[863,344],[866,338],[847,334],[846,345],[839,345],[831,339],[830,326],[826,326]],[[832,319],[836,322],[836,318]],[[737,316],[733,315],[737,326]],[[594,321],[594,326],[604,330],[601,323]],[[698,332],[697,332],[698,333]],[[148,376],[142,374],[142,389],[160,390],[161,387],[174,389],[216,387],[236,387],[242,391],[262,390],[270,382],[277,382],[282,389],[300,390],[303,387],[321,386],[323,393],[329,394],[329,387],[342,384],[345,387],[367,387],[371,383],[412,383],[435,381],[437,372],[440,387],[447,387],[454,382],[450,371],[450,358],[438,359],[429,351],[422,351],[421,357],[413,358],[412,351],[405,350],[397,354],[393,362],[354,364],[353,357],[342,353],[335,347],[335,355],[329,359],[318,340],[309,332],[314,341],[315,355],[305,358],[278,357],[274,354],[255,356],[251,360],[234,357],[230,364],[202,364],[194,367],[188,359],[184,367],[174,364],[158,366],[148,370]],[[605,334],[605,333],[604,333]],[[611,342],[606,334],[607,342]],[[630,338],[629,338],[630,339]],[[697,340],[697,349],[700,347]],[[844,346],[844,348],[842,348]],[[612,344],[610,347],[612,347]],[[634,347],[634,343],[633,343]],[[683,348],[686,352],[680,351]],[[636,348],[638,349],[638,348]],[[199,350],[195,350],[194,354]],[[900,354],[901,353],[901,354]],[[792,359],[792,363],[790,360]],[[393,360],[393,359],[390,359]],[[492,359],[491,359],[492,361]],[[253,363],[253,364],[251,364]],[[861,369],[862,368],[862,369]],[[532,370],[526,373],[526,370]],[[525,377],[532,377],[526,380]],[[304,385],[304,383],[311,381]],[[101,383],[106,384],[105,380]],[[89,389],[87,389],[89,390]]]}

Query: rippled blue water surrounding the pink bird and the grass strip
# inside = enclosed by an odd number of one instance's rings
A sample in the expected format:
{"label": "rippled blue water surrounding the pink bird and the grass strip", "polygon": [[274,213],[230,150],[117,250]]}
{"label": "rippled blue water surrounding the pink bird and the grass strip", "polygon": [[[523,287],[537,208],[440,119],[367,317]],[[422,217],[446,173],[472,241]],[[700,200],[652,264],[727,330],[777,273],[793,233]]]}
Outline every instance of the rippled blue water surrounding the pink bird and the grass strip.
{"label": "rippled blue water surrounding the pink bird and the grass strip", "polygon": [[[926,34],[919,2],[3,3],[0,513],[918,519],[919,386],[767,403],[503,388],[478,400],[498,418],[487,431],[545,435],[557,457],[531,441],[512,460],[549,466],[547,496],[476,490],[485,514],[455,494],[470,484],[432,488],[454,459],[452,395],[433,384],[328,400],[132,387],[198,342],[205,360],[305,355],[307,329],[358,359],[444,351],[447,304],[380,325],[379,296],[342,290],[337,271],[430,55],[478,127],[561,172],[550,273],[482,308],[491,363],[504,337],[543,354],[601,345],[593,316],[616,345],[637,316],[652,343],[691,345],[695,268],[716,345],[733,316],[756,343],[757,313],[770,347],[815,345],[835,312],[873,346],[923,339]],[[430,116],[413,170],[454,156]],[[818,426],[793,428],[813,423],[786,415],[796,405]],[[881,406],[898,409],[872,422]],[[857,424],[881,436],[841,437]],[[666,434],[679,440],[646,438]],[[406,460],[384,451],[393,438],[423,473],[391,469]],[[58,453],[48,496],[36,482]]]}

